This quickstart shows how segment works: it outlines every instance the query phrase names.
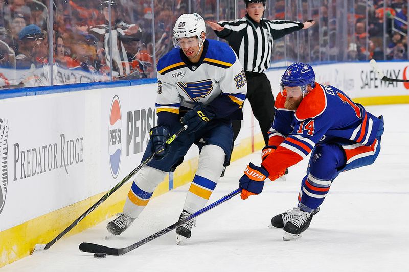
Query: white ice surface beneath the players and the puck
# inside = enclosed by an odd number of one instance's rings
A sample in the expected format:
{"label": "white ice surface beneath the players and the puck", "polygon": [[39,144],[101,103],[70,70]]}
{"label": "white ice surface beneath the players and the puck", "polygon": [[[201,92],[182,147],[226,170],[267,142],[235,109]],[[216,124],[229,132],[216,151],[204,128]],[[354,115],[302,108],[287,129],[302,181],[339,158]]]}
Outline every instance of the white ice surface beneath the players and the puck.
{"label": "white ice surface beneath the players and the puck", "polygon": [[[367,109],[385,119],[377,161],[337,177],[300,239],[284,242],[283,230],[267,225],[272,216],[296,205],[307,159],[289,169],[287,181],[266,182],[261,195],[245,201],[236,196],[199,216],[192,237],[182,245],[175,244],[173,231],[123,256],[95,259],[94,254],[78,250],[83,241],[127,246],[173,224],[189,185],[151,200],[120,237],[104,239],[105,221],[0,272],[408,271],[409,105]],[[249,161],[259,164],[260,152],[234,162],[210,202],[238,187]]]}

